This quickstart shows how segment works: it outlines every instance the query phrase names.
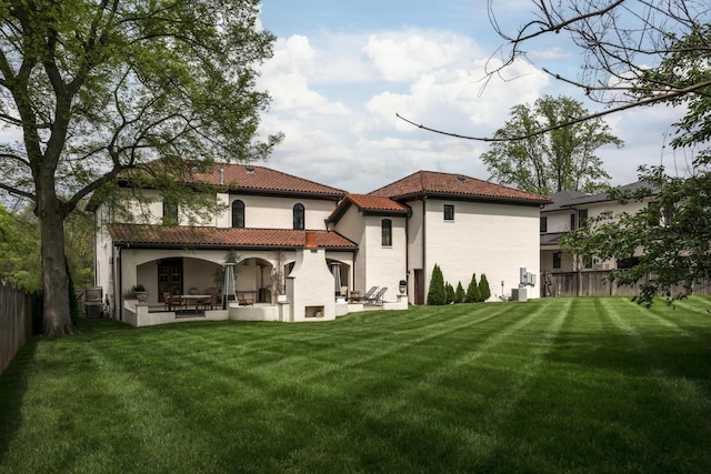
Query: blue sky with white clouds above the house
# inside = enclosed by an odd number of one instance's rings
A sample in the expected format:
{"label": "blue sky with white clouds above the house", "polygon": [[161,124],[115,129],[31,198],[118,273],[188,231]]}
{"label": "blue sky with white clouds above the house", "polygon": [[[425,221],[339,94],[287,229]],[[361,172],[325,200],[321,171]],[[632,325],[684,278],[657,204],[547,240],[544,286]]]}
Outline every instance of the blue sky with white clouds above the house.
{"label": "blue sky with white clouds above the house", "polygon": [[[507,32],[531,19],[530,0],[494,0]],[[528,46],[529,62],[504,70],[482,89],[487,64],[503,40],[484,0],[263,0],[262,27],[278,37],[260,88],[272,97],[262,134],[284,142],[268,163],[280,171],[354,193],[367,193],[419,170],[488,179],[482,142],[447,138],[418,123],[465,135],[490,137],[511,107],[542,94],[582,94],[542,72],[575,78],[580,51],[565,38]],[[599,150],[612,184],[637,179],[641,164],[673,165],[664,142],[679,113],[664,107],[609,115],[625,147]]]}

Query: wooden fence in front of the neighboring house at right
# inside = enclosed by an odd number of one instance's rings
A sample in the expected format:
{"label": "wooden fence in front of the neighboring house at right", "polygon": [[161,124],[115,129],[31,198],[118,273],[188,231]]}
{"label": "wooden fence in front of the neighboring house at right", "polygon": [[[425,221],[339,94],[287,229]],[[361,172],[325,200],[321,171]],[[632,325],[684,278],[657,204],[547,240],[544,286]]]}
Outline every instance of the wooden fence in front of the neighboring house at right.
{"label": "wooden fence in front of the neighboring house at right", "polygon": [[[609,282],[610,270],[592,270],[580,272],[582,285],[580,296],[635,296],[640,294],[640,285],[649,279],[634,285],[619,286],[617,282]],[[711,294],[711,284],[698,284],[693,294]],[[541,275],[541,296],[577,296],[578,272],[543,273]]]}

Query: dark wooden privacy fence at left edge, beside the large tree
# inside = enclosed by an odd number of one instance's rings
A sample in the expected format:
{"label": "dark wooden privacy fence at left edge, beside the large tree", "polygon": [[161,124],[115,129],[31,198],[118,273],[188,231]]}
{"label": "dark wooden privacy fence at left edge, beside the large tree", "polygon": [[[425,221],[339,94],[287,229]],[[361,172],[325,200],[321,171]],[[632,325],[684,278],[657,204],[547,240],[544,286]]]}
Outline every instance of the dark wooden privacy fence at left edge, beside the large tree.
{"label": "dark wooden privacy fence at left edge, beside the large tree", "polygon": [[32,296],[0,283],[0,374],[32,335]]}

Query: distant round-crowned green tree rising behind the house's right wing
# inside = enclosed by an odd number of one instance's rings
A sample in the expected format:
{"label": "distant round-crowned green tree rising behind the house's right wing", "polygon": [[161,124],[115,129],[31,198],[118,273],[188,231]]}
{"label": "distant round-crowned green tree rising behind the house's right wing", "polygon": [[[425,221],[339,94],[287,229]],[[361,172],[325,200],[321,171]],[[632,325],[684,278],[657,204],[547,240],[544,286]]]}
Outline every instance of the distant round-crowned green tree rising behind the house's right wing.
{"label": "distant round-crowned green tree rising behind the house's right wing", "polygon": [[607,144],[621,147],[602,119],[591,119],[533,135],[540,129],[555,128],[569,117],[588,113],[582,103],[565,97],[544,95],[531,107],[511,109],[510,120],[494,139],[524,135],[515,141],[494,141],[481,155],[491,177],[502,184],[551,194],[562,190],[594,192],[607,188],[610,174],[602,168],[595,150]]}

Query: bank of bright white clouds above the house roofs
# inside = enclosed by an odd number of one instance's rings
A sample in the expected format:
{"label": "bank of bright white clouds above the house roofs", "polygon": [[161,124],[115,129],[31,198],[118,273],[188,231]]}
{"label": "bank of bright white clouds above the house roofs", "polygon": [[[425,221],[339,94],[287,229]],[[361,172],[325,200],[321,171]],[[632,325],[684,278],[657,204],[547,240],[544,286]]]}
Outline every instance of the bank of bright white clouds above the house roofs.
{"label": "bank of bright white clouds above the house roofs", "polygon": [[[563,53],[550,49],[547,58]],[[273,99],[260,132],[286,133],[270,165],[351,192],[423,169],[488,179],[479,160],[487,143],[427,132],[395,113],[448,132],[491,137],[513,105],[563,90],[523,60],[482,81],[498,65],[472,38],[434,30],[280,39],[260,82]],[[639,133],[658,133],[659,122],[669,120],[629,117],[609,118],[628,143],[651,143],[653,137]],[[615,183],[618,177],[633,181],[637,167],[659,152],[638,147],[600,153]]]}

